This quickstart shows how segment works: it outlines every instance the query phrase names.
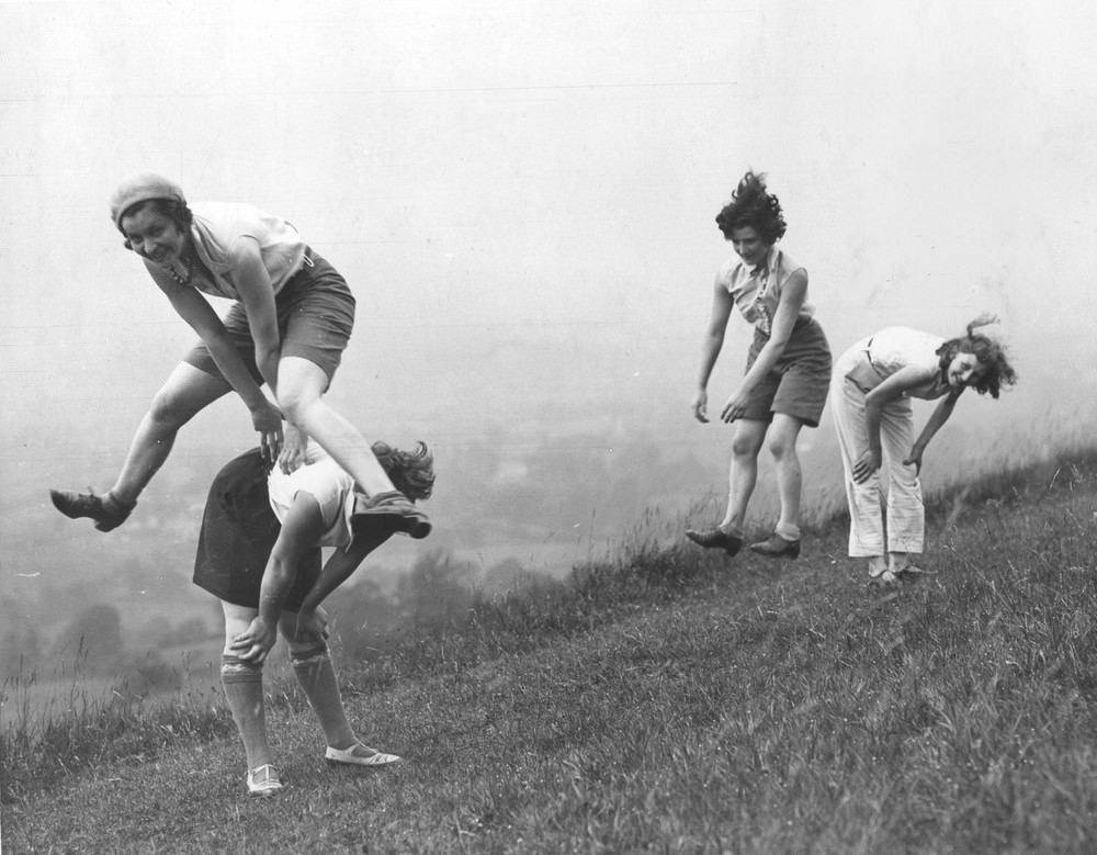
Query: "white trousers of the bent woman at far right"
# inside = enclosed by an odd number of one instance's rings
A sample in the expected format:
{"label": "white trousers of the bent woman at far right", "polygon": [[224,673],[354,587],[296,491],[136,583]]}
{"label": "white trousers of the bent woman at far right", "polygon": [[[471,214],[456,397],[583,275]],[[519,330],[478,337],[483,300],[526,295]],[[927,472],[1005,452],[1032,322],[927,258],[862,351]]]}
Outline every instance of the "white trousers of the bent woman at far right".
{"label": "white trousers of the bent woman at far right", "polygon": [[[914,466],[903,465],[914,445],[914,410],[909,398],[901,397],[884,405],[880,413],[882,465],[868,481],[853,482],[853,463],[869,449],[869,431],[864,419],[866,392],[846,375],[864,359],[863,350],[847,351],[835,365],[830,383],[830,412],[846,472],[849,554],[870,558],[885,552],[920,553],[926,539],[921,483]],[[882,475],[887,477],[886,497]]]}

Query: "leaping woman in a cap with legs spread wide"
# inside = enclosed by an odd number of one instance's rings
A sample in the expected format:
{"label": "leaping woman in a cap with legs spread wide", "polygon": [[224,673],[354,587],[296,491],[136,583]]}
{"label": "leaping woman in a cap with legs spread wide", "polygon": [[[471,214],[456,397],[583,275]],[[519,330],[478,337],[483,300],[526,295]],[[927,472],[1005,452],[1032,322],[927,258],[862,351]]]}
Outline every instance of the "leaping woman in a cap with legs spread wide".
{"label": "leaping woman in a cap with legs spread wide", "polygon": [[[293,225],[246,204],[190,206],[177,184],[151,173],[122,182],[111,218],[202,341],[154,396],[114,485],[103,495],[50,491],[58,510],[91,517],[100,531],[122,525],[179,429],[235,390],[267,460],[280,455],[284,415],[353,475],[367,499],[363,513],[397,517],[414,538],[430,533],[429,518],[393,486],[371,443],[323,398],[350,338],[354,297]],[[203,293],[236,301],[224,322]]]}

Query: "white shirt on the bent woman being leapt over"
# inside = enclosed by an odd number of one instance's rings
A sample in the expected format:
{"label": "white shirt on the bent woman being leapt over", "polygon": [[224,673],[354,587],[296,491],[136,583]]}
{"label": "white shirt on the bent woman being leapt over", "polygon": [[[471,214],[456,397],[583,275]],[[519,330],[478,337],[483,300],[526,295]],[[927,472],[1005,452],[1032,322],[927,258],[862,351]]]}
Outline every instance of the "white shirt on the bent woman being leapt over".
{"label": "white shirt on the bent woman being leapt over", "polygon": [[348,547],[353,538],[350,517],[354,509],[354,479],[316,440],[308,440],[306,454],[310,462],[289,475],[279,466],[271,470],[271,510],[283,522],[294,497],[308,493],[319,505],[324,520],[319,545]]}

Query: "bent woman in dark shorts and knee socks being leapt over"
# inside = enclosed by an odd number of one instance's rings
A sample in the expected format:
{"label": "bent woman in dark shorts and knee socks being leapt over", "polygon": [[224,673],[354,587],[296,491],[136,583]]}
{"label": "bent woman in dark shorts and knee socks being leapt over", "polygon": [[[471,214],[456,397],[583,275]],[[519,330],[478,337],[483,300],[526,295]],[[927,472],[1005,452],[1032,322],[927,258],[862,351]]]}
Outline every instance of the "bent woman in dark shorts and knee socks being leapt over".
{"label": "bent woman in dark shorts and knee socks being leapt over", "polygon": [[[299,457],[302,448],[307,462],[291,473],[272,470],[258,448],[222,469],[206,499],[194,562],[194,584],[216,596],[225,615],[222,683],[247,753],[248,791],[256,796],[282,788],[267,740],[262,685],[263,661],[279,631],[327,738],[326,758],[358,766],[399,761],[364,745],[347,721],[320,604],[403,530],[400,521],[367,513],[354,480],[317,443],[305,447],[287,430],[283,453]],[[430,496],[433,459],[423,443],[406,452],[375,442],[373,453],[411,502]],[[321,547],[335,548],[323,566]]]}

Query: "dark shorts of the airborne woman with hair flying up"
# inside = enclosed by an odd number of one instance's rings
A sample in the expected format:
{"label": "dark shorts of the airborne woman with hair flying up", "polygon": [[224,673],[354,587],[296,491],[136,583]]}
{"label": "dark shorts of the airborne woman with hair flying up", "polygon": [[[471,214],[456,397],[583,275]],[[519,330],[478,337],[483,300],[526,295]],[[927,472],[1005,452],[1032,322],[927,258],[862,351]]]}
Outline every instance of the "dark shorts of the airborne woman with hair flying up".
{"label": "dark shorts of the airborne woman with hair flying up", "polygon": [[[747,371],[767,341],[768,336],[755,327]],[[780,413],[818,427],[829,386],[830,345],[823,327],[814,318],[798,320],[781,358],[751,393],[743,418],[769,423]]]}

